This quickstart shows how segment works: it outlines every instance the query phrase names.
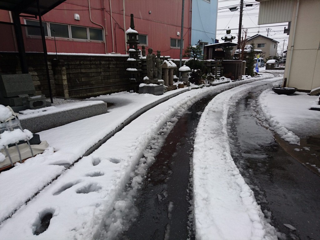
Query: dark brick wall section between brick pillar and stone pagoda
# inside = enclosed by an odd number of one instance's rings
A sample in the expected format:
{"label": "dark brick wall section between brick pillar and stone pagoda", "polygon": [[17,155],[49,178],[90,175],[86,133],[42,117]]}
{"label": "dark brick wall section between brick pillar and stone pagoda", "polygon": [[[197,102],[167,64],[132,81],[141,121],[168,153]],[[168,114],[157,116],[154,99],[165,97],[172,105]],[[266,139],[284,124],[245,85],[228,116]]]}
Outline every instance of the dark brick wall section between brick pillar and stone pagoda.
{"label": "dark brick wall section between brick pillar and stone pagoda", "polygon": [[69,97],[85,98],[126,91],[130,75],[128,57],[60,55],[64,60]]}

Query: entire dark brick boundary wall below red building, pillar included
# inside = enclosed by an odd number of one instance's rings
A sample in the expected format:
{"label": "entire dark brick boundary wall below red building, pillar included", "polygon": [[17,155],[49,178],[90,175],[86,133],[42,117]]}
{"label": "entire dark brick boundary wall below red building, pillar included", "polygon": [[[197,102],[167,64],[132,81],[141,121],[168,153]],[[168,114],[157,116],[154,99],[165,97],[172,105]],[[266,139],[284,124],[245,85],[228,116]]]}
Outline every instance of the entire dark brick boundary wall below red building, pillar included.
{"label": "entire dark brick boundary wall below red building, pillar included", "polygon": [[[126,91],[130,87],[126,56],[48,55],[53,96],[88,98]],[[27,53],[28,70],[36,94],[49,96],[49,86],[42,53]],[[0,52],[0,73],[20,74],[17,53]]]}

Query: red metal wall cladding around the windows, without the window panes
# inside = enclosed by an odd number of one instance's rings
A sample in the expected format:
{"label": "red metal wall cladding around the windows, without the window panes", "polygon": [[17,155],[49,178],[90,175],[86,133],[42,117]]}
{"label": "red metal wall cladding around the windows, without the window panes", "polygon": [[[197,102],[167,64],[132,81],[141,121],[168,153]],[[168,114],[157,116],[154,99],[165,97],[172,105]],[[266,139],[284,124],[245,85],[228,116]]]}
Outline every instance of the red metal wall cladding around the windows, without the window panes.
{"label": "red metal wall cladding around the windows, without the window panes", "polygon": [[[112,22],[110,17],[110,2]],[[185,0],[184,7],[184,50],[190,43],[190,2]],[[180,57],[180,49],[170,48],[170,38],[180,39],[182,0],[124,0],[125,29],[123,19],[123,1],[121,0],[90,0],[92,21],[106,29],[106,46],[101,42],[79,41],[56,38],[57,52],[68,53],[107,53],[126,54],[124,30],[130,27],[130,14],[134,15],[135,30],[148,35],[146,49],[152,47],[161,55]],[[103,11],[105,9],[105,11]],[[149,11],[151,13],[149,14]],[[80,20],[74,19],[74,13]],[[7,17],[5,17],[7,15]],[[32,18],[30,18],[32,19]],[[92,28],[102,28],[92,23],[89,17],[88,0],[67,0],[43,16],[44,21],[79,25]],[[9,14],[0,12],[0,21],[10,21]],[[21,23],[24,24],[23,18]],[[112,23],[112,24],[111,24]],[[48,52],[55,52],[54,40],[46,39]]]}

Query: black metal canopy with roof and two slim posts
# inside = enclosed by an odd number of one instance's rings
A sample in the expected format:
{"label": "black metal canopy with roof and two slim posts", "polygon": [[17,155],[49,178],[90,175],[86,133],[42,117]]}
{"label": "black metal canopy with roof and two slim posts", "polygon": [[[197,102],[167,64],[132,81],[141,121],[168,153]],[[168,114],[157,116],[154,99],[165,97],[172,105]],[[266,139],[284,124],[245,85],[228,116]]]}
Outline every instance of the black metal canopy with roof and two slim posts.
{"label": "black metal canopy with roof and two slim posts", "polygon": [[[41,39],[44,51],[44,61],[47,72],[47,79],[49,85],[49,93],[50,100],[52,100],[52,90],[50,84],[50,75],[49,75],[49,67],[48,67],[48,59],[47,59],[47,46],[45,43],[44,36],[44,28],[42,27],[42,19],[41,17],[58,6],[59,4],[65,2],[66,0],[0,0],[0,9],[7,10],[12,12],[12,20],[14,23],[14,30],[18,45],[18,51],[20,56],[20,64],[22,73],[28,73],[28,65],[26,60],[26,51],[24,48],[21,22],[20,22],[20,14],[30,14],[36,17],[39,17],[40,22],[40,31],[41,31]],[[32,17],[32,16],[30,16]]]}

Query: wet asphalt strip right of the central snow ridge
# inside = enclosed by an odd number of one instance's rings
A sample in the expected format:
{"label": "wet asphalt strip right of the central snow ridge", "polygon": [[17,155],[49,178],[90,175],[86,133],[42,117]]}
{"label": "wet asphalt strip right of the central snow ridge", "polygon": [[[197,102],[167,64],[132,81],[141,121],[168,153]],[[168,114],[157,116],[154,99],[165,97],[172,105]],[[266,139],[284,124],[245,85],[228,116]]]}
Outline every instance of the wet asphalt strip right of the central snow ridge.
{"label": "wet asphalt strip right of the central snow ridge", "polygon": [[232,115],[233,159],[271,225],[286,239],[319,240],[320,177],[285,152],[252,116],[250,104],[260,91],[239,100]]}

